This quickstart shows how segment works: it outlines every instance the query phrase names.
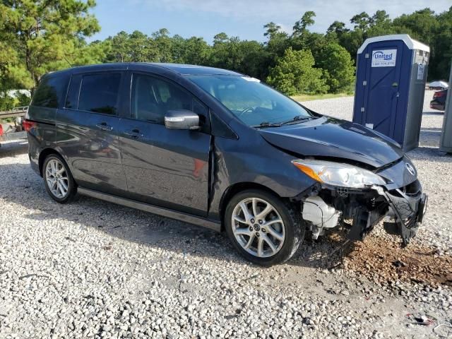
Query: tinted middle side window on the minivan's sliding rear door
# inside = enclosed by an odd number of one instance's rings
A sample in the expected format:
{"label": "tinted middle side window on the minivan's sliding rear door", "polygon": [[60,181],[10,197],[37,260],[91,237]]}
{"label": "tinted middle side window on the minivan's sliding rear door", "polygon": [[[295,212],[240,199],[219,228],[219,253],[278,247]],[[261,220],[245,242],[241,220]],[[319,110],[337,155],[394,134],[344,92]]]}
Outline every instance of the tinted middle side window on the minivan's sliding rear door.
{"label": "tinted middle side window on the minivan's sliding rear door", "polygon": [[78,109],[102,114],[117,114],[120,73],[83,76]]}

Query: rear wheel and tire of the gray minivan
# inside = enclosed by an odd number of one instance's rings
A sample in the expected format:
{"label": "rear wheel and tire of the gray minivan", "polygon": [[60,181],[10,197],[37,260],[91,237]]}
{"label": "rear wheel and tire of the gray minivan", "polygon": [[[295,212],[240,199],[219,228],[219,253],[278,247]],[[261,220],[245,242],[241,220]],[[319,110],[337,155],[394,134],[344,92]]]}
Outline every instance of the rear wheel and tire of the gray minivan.
{"label": "rear wheel and tire of the gray minivan", "polygon": [[76,196],[71,170],[60,155],[47,155],[42,165],[42,178],[47,193],[57,203],[69,203]]}

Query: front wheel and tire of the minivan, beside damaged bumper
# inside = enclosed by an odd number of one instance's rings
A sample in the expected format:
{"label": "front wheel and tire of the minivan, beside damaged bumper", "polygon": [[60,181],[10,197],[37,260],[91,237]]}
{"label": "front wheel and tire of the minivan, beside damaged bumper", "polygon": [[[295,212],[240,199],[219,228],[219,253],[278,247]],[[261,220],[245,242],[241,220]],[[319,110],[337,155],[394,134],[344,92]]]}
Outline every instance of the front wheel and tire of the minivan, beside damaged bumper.
{"label": "front wheel and tire of the minivan, beside damaged bumper", "polygon": [[261,266],[289,260],[305,232],[299,210],[278,196],[258,189],[242,191],[227,203],[225,229],[239,254]]}

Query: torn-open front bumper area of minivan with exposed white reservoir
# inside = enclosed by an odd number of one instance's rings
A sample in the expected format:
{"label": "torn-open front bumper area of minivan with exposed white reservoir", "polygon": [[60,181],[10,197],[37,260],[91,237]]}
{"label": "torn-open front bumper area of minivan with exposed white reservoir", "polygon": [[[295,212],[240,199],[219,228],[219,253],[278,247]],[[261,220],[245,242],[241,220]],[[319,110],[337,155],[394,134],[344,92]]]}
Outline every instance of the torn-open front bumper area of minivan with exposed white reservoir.
{"label": "torn-open front bumper area of minivan with exposed white reservoir", "polygon": [[415,180],[399,189],[382,186],[368,189],[345,189],[317,185],[307,198],[302,199],[302,218],[317,239],[324,230],[347,225],[352,220],[347,237],[362,240],[383,218],[383,227],[390,234],[400,235],[406,246],[424,218],[427,195]]}

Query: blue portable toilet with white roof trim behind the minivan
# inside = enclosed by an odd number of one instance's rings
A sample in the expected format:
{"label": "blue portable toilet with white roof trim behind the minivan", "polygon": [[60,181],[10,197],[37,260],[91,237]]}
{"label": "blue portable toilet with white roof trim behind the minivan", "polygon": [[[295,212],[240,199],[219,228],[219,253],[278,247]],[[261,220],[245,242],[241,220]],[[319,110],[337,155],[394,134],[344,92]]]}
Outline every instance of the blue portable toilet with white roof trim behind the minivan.
{"label": "blue portable toilet with white roof trim behind the minivan", "polygon": [[430,49],[410,35],[364,41],[357,53],[353,122],[379,131],[403,150],[419,145]]}

